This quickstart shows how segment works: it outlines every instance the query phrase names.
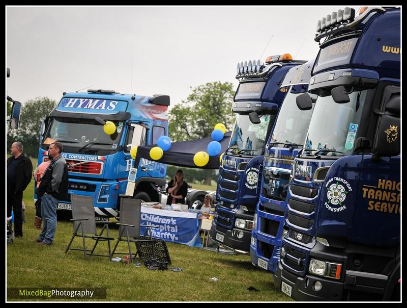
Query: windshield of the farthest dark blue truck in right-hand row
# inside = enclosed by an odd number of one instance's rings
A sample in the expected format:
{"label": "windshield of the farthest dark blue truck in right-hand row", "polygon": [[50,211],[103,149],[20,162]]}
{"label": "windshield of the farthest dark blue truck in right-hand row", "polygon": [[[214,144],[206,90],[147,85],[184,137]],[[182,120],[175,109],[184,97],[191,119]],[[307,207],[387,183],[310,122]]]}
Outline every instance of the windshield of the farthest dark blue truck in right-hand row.
{"label": "windshield of the farthest dark blue truck in right-hand row", "polygon": [[269,124],[270,115],[261,116],[260,123],[253,124],[248,115],[238,114],[227,153],[246,156],[262,155]]}

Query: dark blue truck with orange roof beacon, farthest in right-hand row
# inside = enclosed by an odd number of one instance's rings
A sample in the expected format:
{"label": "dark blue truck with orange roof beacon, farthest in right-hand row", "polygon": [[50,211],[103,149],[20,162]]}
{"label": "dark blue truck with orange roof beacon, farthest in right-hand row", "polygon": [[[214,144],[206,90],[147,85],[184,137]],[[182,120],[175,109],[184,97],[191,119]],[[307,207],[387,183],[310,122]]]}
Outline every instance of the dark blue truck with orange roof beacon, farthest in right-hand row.
{"label": "dark blue truck with orange roof beacon, farthest in right-hand row", "polygon": [[303,63],[283,54],[268,57],[266,65],[259,60],[238,64],[236,122],[219,168],[210,231],[215,242],[236,252],[249,254],[266,142],[287,94],[280,85],[290,68]]}

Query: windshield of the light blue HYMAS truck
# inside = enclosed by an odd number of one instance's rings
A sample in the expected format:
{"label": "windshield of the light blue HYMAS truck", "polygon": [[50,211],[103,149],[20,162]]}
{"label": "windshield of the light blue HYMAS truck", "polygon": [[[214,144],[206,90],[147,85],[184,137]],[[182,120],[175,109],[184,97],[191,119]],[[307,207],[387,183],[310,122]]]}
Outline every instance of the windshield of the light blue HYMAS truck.
{"label": "windshield of the light blue HYMAS truck", "polygon": [[75,148],[78,152],[79,150],[96,152],[98,149],[114,151],[120,142],[123,122],[112,122],[117,129],[112,135],[107,135],[103,131],[103,125],[96,123],[94,119],[54,117],[49,123],[44,143],[59,141],[64,146]]}

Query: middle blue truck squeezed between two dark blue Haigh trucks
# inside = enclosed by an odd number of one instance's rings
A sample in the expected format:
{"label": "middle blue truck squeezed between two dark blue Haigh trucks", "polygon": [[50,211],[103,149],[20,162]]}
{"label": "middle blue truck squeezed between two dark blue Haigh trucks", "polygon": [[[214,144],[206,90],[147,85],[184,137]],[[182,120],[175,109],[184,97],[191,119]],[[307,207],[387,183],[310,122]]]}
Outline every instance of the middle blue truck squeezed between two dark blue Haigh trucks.
{"label": "middle blue truck squeezed between two dark blue Haigh trucks", "polygon": [[296,98],[308,91],[314,62],[291,68],[281,89],[287,91],[266,146],[260,197],[254,215],[250,259],[254,266],[276,271],[284,234],[285,198],[294,157],[303,147],[312,109],[301,110]]}

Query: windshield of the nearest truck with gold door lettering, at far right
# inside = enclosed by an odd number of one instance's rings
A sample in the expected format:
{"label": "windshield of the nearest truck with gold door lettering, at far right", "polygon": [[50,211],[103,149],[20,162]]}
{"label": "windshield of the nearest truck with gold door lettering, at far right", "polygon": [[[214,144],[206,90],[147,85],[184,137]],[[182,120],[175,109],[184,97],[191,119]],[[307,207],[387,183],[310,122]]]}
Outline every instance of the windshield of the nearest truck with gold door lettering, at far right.
{"label": "windshield of the nearest truck with gold door lettering, at far right", "polygon": [[352,153],[367,90],[349,94],[337,104],[332,96],[318,96],[305,140],[305,154],[345,156]]}

